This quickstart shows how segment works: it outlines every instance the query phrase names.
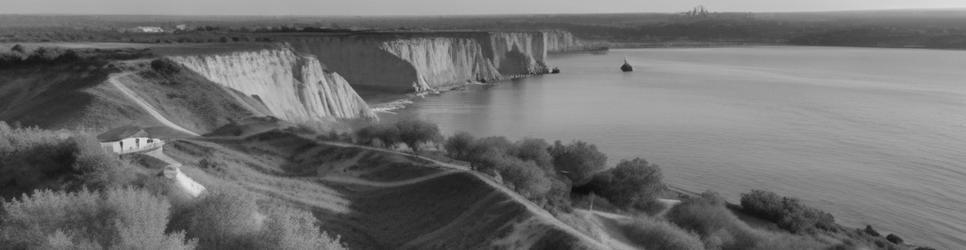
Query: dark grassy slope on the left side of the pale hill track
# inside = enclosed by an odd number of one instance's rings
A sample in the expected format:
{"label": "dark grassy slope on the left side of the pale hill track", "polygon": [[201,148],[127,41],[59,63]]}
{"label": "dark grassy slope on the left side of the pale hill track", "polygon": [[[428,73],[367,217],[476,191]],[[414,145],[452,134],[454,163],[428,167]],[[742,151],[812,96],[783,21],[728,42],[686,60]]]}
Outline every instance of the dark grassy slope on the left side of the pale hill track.
{"label": "dark grassy slope on the left side of the pale hill track", "polygon": [[0,68],[0,120],[45,128],[155,126],[118,91],[102,84],[102,62]]}

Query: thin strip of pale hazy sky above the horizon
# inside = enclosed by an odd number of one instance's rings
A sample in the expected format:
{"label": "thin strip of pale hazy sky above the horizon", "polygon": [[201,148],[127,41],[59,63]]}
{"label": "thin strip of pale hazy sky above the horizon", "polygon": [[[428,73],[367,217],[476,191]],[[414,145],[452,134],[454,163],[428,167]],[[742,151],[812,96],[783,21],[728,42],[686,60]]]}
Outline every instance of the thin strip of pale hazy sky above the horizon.
{"label": "thin strip of pale hazy sky above the horizon", "polygon": [[966,8],[966,0],[0,0],[14,14],[462,15]]}

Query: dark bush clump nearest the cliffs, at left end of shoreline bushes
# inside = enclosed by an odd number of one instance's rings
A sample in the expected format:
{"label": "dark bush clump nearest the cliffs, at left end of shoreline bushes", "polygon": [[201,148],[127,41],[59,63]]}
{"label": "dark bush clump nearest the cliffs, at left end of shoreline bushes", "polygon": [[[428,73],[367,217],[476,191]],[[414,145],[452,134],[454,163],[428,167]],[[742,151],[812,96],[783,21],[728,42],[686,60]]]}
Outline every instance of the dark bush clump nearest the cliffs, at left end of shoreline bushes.
{"label": "dark bush clump nearest the cliffs, at left end of shoreline bushes", "polygon": [[413,152],[419,152],[421,144],[437,142],[443,137],[436,124],[421,120],[378,123],[357,130],[355,135],[361,144],[391,148],[404,143]]}

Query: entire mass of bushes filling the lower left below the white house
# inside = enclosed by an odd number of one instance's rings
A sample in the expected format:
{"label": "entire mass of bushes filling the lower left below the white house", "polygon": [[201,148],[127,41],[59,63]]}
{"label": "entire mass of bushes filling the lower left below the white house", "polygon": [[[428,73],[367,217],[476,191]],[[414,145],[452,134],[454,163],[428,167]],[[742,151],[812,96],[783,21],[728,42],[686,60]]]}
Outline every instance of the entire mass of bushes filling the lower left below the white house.
{"label": "entire mass of bushes filling the lower left below the white house", "polygon": [[87,134],[0,122],[0,163],[4,198],[33,192],[0,200],[3,249],[346,249],[311,214],[262,212],[241,187],[172,207],[169,182],[135,174]]}

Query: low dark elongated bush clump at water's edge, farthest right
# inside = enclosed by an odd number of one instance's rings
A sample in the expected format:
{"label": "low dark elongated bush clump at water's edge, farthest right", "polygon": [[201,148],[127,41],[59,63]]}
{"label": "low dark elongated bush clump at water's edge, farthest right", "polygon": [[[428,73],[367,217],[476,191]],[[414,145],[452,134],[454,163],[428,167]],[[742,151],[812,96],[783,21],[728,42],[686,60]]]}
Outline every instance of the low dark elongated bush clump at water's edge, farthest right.
{"label": "low dark elongated bush clump at water's edge, farthest right", "polygon": [[775,222],[792,233],[833,230],[835,225],[832,214],[806,206],[796,198],[781,197],[769,191],[752,190],[741,194],[741,209]]}

